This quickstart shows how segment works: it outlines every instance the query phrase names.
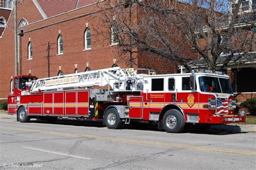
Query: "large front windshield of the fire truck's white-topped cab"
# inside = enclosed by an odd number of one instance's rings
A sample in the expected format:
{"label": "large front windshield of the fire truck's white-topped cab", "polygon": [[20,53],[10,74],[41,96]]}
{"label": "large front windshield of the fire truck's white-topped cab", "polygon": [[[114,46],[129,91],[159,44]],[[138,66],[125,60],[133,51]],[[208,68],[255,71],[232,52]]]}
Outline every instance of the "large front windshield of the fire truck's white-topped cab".
{"label": "large front windshield of the fire truck's white-topped cab", "polygon": [[199,85],[200,90],[203,92],[228,94],[233,93],[229,79],[201,76],[199,77]]}

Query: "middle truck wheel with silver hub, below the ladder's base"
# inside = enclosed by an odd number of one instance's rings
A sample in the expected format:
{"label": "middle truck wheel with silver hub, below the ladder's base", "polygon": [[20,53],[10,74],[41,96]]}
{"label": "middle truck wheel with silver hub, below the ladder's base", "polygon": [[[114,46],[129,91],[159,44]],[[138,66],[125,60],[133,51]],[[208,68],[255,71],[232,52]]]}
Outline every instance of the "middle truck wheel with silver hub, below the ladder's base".
{"label": "middle truck wheel with silver hub, below the ladder's base", "polygon": [[118,111],[114,108],[108,109],[104,116],[104,123],[108,129],[119,129],[122,125],[122,121]]}

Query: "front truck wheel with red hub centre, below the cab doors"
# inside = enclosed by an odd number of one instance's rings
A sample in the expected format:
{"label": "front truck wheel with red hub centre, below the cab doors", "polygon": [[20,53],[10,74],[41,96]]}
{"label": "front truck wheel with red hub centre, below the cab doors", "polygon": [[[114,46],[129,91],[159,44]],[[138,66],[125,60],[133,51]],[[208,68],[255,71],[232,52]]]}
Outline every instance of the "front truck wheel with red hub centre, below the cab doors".
{"label": "front truck wheel with red hub centre, below the cab doors", "polygon": [[163,126],[167,133],[179,133],[185,127],[184,117],[178,110],[167,110],[163,117]]}

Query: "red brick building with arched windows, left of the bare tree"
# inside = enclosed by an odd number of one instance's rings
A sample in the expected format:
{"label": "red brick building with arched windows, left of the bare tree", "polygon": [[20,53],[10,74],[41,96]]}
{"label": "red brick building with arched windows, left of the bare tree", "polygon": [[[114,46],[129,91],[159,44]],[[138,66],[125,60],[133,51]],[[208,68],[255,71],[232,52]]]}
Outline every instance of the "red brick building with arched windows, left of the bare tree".
{"label": "red brick building with arched windows, left of the bare tree", "polygon": [[[19,0],[18,74],[41,78],[113,65],[129,67],[115,52],[111,27],[102,26],[103,13],[98,2]],[[0,38],[0,98],[10,93],[11,76],[15,74],[13,11],[5,20],[8,25]],[[109,38],[97,34],[100,29]],[[136,65],[139,60],[134,61]]]}

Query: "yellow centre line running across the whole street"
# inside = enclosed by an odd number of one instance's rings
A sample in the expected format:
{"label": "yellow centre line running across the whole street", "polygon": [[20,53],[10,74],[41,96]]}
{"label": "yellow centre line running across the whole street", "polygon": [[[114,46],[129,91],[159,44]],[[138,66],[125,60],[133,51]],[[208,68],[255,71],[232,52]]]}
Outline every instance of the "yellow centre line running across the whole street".
{"label": "yellow centre line running across the whole street", "polygon": [[40,132],[40,133],[44,133],[44,134],[52,134],[52,135],[68,136],[68,137],[93,138],[93,139],[116,141],[116,142],[122,142],[122,143],[135,143],[135,144],[145,144],[145,145],[164,146],[164,147],[178,147],[178,148],[187,148],[189,150],[256,155],[256,152],[248,152],[248,151],[226,150],[226,149],[222,149],[222,148],[210,148],[210,147],[203,147],[203,146],[179,145],[179,144],[161,143],[161,142],[157,142],[157,141],[147,141],[147,140],[139,140],[139,139],[125,139],[125,138],[115,138],[115,137],[92,136],[92,135],[88,135],[88,134],[78,134],[78,133],[62,133],[62,132],[36,130],[36,129],[24,129],[24,128],[15,128],[12,126],[0,126],[0,129],[8,129],[8,130],[12,129],[12,130],[18,130],[18,131],[27,131],[27,132]]}

